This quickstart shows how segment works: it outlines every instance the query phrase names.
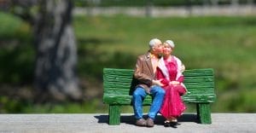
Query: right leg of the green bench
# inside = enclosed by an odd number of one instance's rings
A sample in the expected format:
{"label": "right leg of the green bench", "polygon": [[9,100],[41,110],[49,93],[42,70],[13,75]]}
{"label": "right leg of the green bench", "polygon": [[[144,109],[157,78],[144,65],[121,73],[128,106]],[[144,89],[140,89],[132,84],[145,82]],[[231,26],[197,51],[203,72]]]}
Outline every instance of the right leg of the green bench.
{"label": "right leg of the green bench", "polygon": [[196,103],[196,111],[201,124],[212,124],[210,103]]}

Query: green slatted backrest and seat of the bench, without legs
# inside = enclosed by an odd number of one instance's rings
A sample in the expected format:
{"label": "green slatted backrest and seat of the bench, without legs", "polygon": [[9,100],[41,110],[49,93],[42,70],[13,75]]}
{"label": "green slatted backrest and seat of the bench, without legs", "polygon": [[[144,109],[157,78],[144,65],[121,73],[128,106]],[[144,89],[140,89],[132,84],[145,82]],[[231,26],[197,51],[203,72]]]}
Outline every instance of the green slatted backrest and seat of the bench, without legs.
{"label": "green slatted backrest and seat of the bench, without legs", "polygon": [[[131,69],[104,68],[103,101],[108,103],[109,100],[106,99],[106,97],[109,98],[111,96],[127,97],[127,95],[130,95],[131,97],[137,84],[137,81],[133,78],[133,72],[134,71]],[[215,101],[216,95],[214,92],[214,77],[212,68],[186,70],[183,72],[183,75],[184,84],[188,90],[187,94],[183,95],[184,102],[208,103]],[[130,100],[125,101],[127,101],[127,104],[130,104],[129,102],[131,102]],[[114,103],[125,104],[125,101],[117,101]]]}

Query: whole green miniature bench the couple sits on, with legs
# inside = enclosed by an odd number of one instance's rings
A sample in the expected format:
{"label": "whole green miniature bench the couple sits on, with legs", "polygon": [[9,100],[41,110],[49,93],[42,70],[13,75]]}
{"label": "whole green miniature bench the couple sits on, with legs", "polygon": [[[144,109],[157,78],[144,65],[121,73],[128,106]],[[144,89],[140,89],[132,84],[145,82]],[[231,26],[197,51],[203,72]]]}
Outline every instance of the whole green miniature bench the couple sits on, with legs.
{"label": "whole green miniature bench the couple sits on, with legs", "polygon": [[[120,124],[120,107],[131,105],[132,92],[137,80],[131,69],[103,69],[103,102],[109,105],[109,124]],[[187,94],[183,95],[185,103],[195,103],[197,118],[201,124],[211,124],[210,103],[215,101],[214,76],[212,68],[193,69],[183,72]],[[143,105],[150,105],[151,96],[147,96]]]}

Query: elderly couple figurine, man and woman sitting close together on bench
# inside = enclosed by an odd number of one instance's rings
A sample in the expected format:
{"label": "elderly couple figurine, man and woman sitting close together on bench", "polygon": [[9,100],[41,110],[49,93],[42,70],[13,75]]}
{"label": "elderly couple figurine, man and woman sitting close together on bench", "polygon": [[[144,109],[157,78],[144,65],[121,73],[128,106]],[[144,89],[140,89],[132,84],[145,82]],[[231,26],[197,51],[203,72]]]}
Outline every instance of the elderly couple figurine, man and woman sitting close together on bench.
{"label": "elderly couple figurine, man and woman sitting close together on bench", "polygon": [[[172,55],[175,44],[172,40],[161,43],[160,39],[149,41],[149,50],[137,57],[134,78],[138,84],[132,95],[132,104],[138,126],[154,126],[157,113],[166,119],[165,126],[177,128],[177,117],[186,109],[181,95],[186,93],[183,84],[182,61]],[[153,97],[148,118],[143,119],[143,99]]]}

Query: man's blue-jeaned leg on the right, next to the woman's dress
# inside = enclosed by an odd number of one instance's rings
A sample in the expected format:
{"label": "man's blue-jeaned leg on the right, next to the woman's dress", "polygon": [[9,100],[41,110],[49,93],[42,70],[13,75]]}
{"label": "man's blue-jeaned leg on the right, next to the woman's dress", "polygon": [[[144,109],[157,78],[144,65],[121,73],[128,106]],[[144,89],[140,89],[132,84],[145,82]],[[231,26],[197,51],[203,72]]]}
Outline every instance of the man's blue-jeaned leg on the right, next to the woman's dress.
{"label": "man's blue-jeaned leg on the right, next to the woman's dress", "polygon": [[166,92],[160,86],[155,85],[151,88],[150,93],[153,96],[153,102],[148,112],[148,118],[154,120],[156,114],[159,112],[160,107],[162,106]]}

